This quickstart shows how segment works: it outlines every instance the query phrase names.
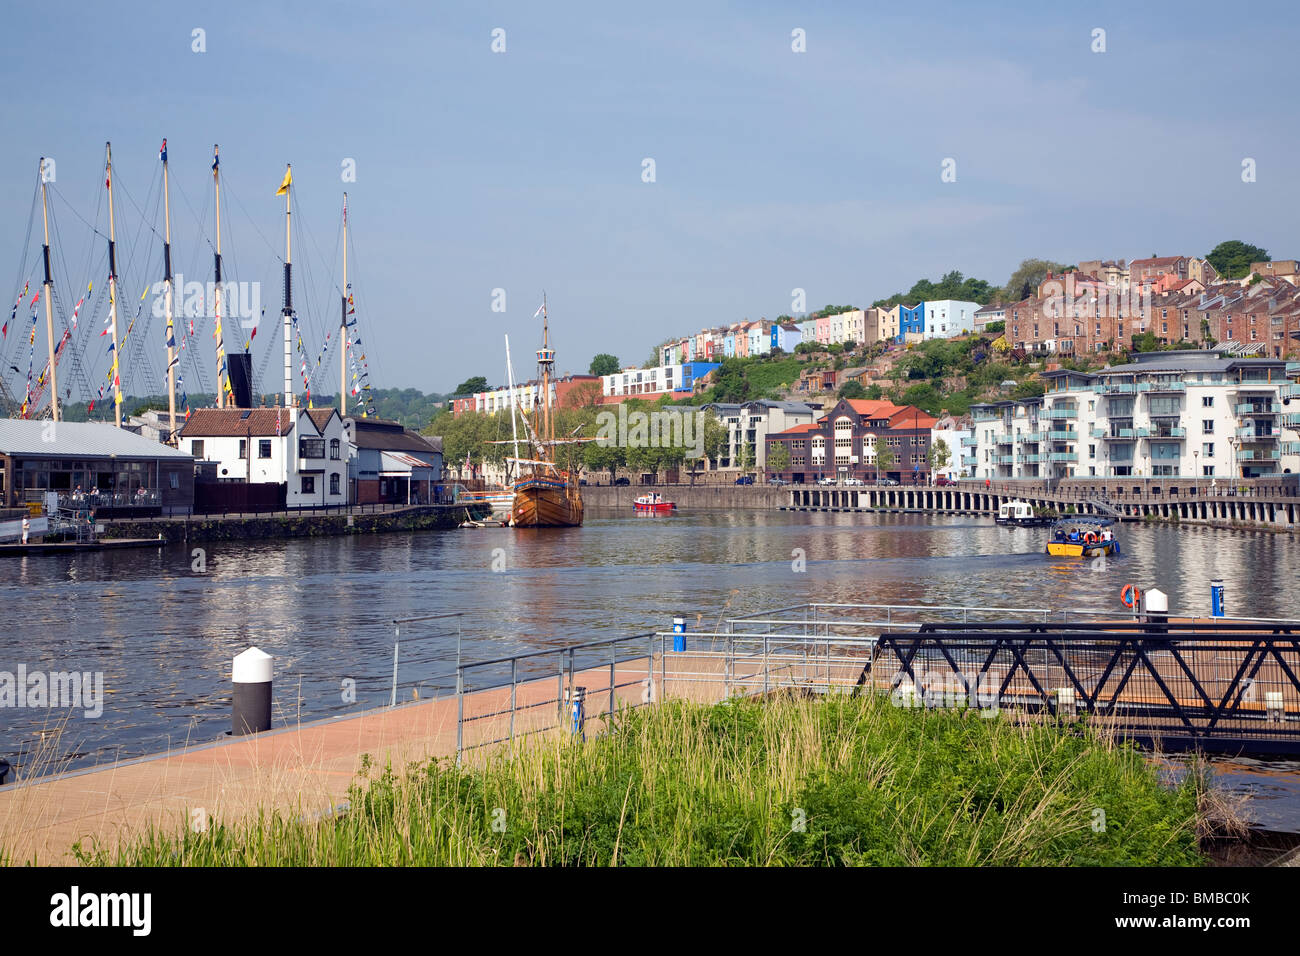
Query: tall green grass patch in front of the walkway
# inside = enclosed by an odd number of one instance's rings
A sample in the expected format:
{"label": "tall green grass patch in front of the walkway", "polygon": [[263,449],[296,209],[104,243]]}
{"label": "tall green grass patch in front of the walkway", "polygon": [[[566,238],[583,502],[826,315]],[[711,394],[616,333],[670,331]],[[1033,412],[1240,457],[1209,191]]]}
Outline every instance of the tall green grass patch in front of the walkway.
{"label": "tall green grass patch in front of the walkway", "polygon": [[[1074,728],[1079,730],[1079,728]],[[1195,865],[1201,783],[1096,731],[888,698],[667,702],[480,766],[367,774],[346,813],[151,831],[83,862]]]}

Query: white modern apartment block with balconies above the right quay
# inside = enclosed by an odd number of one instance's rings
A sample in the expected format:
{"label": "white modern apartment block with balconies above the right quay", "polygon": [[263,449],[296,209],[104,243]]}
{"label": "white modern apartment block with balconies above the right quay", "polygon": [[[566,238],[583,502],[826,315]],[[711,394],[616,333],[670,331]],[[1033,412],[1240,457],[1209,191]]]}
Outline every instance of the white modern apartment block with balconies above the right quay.
{"label": "white modern apartment block with balconies above the right quay", "polygon": [[1046,393],[972,406],[962,463],[978,479],[1260,477],[1300,471],[1300,402],[1279,359],[1144,352]]}

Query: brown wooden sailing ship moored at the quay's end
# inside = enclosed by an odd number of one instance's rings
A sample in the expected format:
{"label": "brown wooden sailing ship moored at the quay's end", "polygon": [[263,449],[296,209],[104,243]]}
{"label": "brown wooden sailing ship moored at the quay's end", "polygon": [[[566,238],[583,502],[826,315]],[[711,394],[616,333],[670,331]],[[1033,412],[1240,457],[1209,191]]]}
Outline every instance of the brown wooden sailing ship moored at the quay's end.
{"label": "brown wooden sailing ship moored at the quay's end", "polygon": [[537,350],[537,372],[542,395],[533,421],[529,423],[526,412],[523,416],[536,458],[512,459],[520,467],[520,475],[512,486],[515,499],[510,509],[510,524],[515,528],[576,528],[582,524],[582,492],[577,476],[556,464],[555,449],[590,440],[572,436],[555,438],[555,408],[551,407],[555,350],[550,346],[545,297],[538,311],[542,313],[542,347]]}

